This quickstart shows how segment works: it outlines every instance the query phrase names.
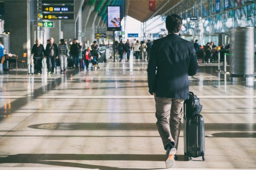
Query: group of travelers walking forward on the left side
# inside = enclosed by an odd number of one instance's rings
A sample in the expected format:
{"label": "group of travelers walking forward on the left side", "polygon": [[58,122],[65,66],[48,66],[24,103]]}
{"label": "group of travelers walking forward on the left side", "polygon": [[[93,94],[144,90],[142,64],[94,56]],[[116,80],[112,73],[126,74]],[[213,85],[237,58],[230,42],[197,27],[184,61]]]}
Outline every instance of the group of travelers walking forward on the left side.
{"label": "group of travelers walking forward on the left side", "polygon": [[77,39],[73,39],[67,43],[64,39],[60,39],[60,43],[57,45],[52,37],[47,40],[45,48],[43,44],[40,44],[40,39],[37,39],[31,50],[34,74],[42,73],[43,58],[46,59],[48,74],[55,74],[58,66],[61,69],[61,74],[66,73],[67,67],[84,69],[85,66],[88,71],[90,61],[94,61],[94,66],[97,66],[99,54],[97,41],[93,41],[93,44],[88,46],[86,41],[82,44]]}

